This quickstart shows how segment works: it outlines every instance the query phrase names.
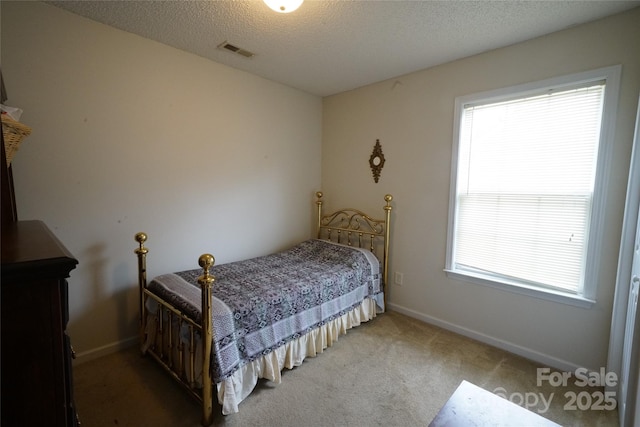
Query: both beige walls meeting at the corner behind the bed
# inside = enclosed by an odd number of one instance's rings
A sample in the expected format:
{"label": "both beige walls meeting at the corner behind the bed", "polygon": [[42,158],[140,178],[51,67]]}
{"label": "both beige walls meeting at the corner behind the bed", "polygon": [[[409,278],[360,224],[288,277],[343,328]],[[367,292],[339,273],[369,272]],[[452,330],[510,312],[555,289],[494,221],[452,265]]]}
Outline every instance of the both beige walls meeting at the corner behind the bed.
{"label": "both beige walls meeting at the corner behind the bed", "polygon": [[[9,104],[34,130],[14,161],[19,216],[44,220],[80,261],[70,329],[84,359],[135,339],[135,232],[149,234],[150,275],[195,267],[202,252],[268,252],[309,235],[322,183],[329,207],[382,215],[394,195],[391,270],[404,285],[390,286],[391,308],[560,368],[605,365],[640,9],[324,102],[42,3],[3,2],[1,19]],[[613,64],[623,69],[597,304],[447,278],[454,98]],[[378,138],[387,163],[374,184]]]}

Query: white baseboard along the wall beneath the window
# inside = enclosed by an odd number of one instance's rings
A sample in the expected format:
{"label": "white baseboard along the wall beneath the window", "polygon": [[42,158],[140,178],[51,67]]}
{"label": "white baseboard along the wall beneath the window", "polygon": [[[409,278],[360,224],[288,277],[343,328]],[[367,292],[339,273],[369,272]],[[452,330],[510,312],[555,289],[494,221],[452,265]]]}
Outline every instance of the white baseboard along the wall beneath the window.
{"label": "white baseboard along the wall beneath the window", "polygon": [[415,310],[411,310],[401,305],[387,303],[387,307],[392,311],[397,311],[398,313],[405,314],[409,317],[413,317],[414,319],[421,320],[425,323],[429,323],[431,325],[438,326],[442,329],[446,329],[448,331],[455,332],[465,337],[472,338],[476,341],[480,341],[482,343],[491,345],[493,347],[497,347],[499,349],[508,351],[509,353],[517,354],[518,356],[522,356],[526,359],[532,360],[534,362],[540,363],[550,368],[556,368],[565,372],[575,372],[576,369],[582,368],[581,366],[577,366],[574,363],[568,362],[566,360],[558,359],[548,354],[540,353],[538,351],[532,350],[527,347],[522,347],[520,345],[513,344],[508,341],[500,340],[498,338],[494,338],[489,335],[485,335],[481,332],[474,331],[472,329],[468,329],[453,323],[449,323],[432,316],[427,316],[426,314],[419,313]]}

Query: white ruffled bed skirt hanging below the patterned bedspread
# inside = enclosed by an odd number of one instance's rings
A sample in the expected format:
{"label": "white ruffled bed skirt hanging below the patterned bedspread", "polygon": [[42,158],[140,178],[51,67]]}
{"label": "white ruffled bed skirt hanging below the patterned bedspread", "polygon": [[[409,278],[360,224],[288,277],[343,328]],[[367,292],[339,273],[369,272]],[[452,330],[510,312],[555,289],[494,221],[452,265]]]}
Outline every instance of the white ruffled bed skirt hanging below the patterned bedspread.
{"label": "white ruffled bed skirt hanging below the patterned bedspread", "polygon": [[367,298],[343,316],[242,366],[231,377],[216,384],[222,413],[228,415],[238,412],[238,405],[251,394],[259,379],[265,378],[279,384],[284,368],[293,369],[301,365],[305,358],[322,353],[348,329],[373,319],[377,312],[376,301]]}

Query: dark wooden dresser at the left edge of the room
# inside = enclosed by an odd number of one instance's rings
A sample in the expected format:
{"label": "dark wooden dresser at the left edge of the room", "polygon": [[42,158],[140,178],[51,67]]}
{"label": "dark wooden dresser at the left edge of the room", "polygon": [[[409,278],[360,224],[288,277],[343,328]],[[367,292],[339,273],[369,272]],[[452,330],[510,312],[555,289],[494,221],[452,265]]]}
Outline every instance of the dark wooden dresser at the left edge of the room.
{"label": "dark wooden dresser at the left edge of the room", "polygon": [[66,278],[78,261],[43,222],[17,220],[4,139],[1,153],[1,424],[77,426]]}

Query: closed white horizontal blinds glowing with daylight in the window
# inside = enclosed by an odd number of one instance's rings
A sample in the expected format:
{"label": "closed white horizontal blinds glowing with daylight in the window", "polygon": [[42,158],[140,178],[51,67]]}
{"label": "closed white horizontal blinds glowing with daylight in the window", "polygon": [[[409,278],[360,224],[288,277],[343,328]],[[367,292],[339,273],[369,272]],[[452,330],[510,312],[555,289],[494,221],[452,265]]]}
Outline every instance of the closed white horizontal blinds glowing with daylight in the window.
{"label": "closed white horizontal blinds glowing with daylight in the window", "polygon": [[464,105],[455,270],[582,292],[604,90]]}

